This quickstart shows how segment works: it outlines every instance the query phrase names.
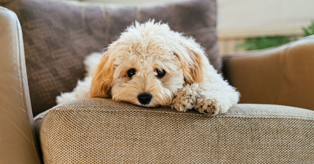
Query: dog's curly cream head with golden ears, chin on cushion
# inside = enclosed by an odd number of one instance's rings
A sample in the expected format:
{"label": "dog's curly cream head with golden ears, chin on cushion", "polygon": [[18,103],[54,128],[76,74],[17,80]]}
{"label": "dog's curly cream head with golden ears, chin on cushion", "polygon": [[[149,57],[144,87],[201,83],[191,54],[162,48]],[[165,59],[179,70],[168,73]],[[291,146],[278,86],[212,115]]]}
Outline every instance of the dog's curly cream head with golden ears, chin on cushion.
{"label": "dog's curly cream head with golden ears, chin on cushion", "polygon": [[107,47],[95,67],[91,97],[168,106],[185,83],[203,83],[204,54],[192,38],[167,24],[136,22]]}

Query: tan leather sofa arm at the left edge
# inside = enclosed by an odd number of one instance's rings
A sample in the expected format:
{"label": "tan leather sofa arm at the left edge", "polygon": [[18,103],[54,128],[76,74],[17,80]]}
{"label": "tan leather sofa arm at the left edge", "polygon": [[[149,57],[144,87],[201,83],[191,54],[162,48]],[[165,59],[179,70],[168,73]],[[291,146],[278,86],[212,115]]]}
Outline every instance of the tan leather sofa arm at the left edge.
{"label": "tan leather sofa arm at the left edge", "polygon": [[0,163],[40,163],[27,83],[22,31],[0,6]]}

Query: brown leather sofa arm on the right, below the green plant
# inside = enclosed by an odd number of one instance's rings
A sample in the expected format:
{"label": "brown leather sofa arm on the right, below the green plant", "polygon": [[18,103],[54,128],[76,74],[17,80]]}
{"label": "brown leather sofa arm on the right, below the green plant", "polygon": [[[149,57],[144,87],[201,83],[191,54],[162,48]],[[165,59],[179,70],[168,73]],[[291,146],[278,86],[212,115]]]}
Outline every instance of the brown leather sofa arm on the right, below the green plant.
{"label": "brown leather sofa arm on the right, below the green plant", "polygon": [[314,110],[314,36],[279,47],[224,57],[223,72],[241,103]]}

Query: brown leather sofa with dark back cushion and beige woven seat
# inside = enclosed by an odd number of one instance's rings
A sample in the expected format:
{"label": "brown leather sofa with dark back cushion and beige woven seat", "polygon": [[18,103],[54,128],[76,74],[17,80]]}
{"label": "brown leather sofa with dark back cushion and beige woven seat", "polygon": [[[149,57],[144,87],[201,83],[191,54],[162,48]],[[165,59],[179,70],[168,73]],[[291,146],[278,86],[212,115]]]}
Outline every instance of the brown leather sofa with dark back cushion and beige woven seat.
{"label": "brown leather sofa with dark back cushion and beige woven seat", "polygon": [[[221,57],[215,0],[0,6],[0,163],[314,161],[314,36]],[[55,97],[84,77],[86,55],[148,18],[196,38],[241,93],[240,103],[215,117],[100,98],[56,105]]]}

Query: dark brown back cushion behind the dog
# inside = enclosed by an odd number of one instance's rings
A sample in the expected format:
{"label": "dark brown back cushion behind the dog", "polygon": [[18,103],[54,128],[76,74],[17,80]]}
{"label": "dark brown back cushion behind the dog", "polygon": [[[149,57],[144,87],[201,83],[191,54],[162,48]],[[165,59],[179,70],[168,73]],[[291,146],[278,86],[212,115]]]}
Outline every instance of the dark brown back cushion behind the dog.
{"label": "dark brown back cushion behind the dog", "polygon": [[33,115],[56,105],[84,77],[83,60],[100,52],[135,20],[169,23],[196,38],[220,70],[215,0],[194,0],[150,7],[111,7],[87,2],[0,0],[21,23]]}

